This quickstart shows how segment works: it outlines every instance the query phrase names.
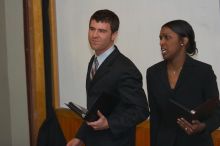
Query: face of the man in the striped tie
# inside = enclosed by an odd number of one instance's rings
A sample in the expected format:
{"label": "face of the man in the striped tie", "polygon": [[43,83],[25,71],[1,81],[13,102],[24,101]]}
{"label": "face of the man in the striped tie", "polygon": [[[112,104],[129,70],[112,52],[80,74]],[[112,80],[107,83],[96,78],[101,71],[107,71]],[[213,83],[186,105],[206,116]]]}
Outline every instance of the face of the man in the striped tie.
{"label": "face of the man in the striped tie", "polygon": [[106,22],[91,20],[89,25],[88,39],[91,48],[100,55],[109,49],[117,36],[117,32],[112,33],[111,26]]}

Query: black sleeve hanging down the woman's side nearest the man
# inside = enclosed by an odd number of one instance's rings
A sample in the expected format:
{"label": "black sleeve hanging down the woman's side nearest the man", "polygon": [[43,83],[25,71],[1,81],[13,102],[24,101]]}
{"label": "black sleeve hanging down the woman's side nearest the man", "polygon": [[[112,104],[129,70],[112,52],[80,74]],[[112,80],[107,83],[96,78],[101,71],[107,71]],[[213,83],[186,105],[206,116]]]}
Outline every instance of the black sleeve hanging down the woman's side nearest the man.
{"label": "black sleeve hanging down the woman's side nearest the man", "polygon": [[153,94],[151,90],[152,83],[151,83],[151,76],[149,70],[147,70],[146,81],[147,81],[148,101],[150,107],[150,145],[155,146],[157,145],[157,133],[160,125],[160,118],[158,116],[159,113],[157,111],[157,105],[155,99],[153,98]]}

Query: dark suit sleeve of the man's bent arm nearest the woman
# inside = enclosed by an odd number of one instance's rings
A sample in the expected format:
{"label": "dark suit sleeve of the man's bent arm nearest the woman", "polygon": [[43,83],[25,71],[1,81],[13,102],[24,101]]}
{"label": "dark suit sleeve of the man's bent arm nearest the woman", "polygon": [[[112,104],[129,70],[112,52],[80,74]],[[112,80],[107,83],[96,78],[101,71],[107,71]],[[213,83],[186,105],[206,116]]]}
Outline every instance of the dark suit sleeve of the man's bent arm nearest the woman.
{"label": "dark suit sleeve of the man's bent arm nearest the woman", "polygon": [[134,128],[149,116],[142,76],[138,69],[133,67],[123,73],[117,84],[117,92],[120,103],[108,117],[110,130],[115,136]]}

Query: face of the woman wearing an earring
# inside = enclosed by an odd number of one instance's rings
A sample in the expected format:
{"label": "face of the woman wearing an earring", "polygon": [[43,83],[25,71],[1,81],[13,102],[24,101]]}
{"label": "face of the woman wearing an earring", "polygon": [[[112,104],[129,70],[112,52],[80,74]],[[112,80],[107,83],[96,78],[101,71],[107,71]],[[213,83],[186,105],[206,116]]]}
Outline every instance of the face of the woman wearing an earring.
{"label": "face of the woman wearing an earring", "polygon": [[162,27],[160,30],[161,54],[165,60],[173,60],[179,56],[185,55],[183,39],[180,39],[177,33],[168,27]]}

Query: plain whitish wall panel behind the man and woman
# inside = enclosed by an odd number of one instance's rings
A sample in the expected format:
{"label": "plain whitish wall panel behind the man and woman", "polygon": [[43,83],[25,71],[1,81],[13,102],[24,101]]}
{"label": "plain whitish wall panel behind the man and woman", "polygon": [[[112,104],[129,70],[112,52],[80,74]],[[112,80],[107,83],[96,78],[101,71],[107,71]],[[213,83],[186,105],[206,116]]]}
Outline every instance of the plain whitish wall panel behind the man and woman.
{"label": "plain whitish wall panel behind the man and woman", "polygon": [[56,0],[59,83],[61,104],[70,100],[86,105],[85,77],[92,52],[87,31],[97,9],[115,11],[121,21],[116,41],[119,50],[140,69],[146,91],[146,69],[162,60],[160,27],[173,19],[185,19],[194,28],[198,60],[207,62],[220,83],[219,0]]}

